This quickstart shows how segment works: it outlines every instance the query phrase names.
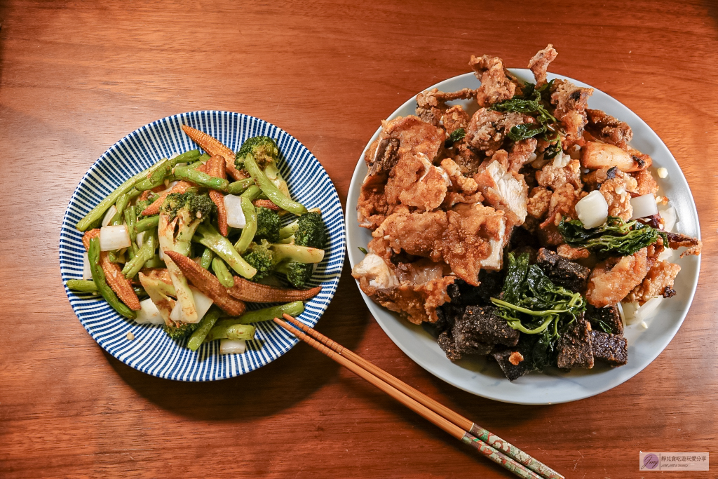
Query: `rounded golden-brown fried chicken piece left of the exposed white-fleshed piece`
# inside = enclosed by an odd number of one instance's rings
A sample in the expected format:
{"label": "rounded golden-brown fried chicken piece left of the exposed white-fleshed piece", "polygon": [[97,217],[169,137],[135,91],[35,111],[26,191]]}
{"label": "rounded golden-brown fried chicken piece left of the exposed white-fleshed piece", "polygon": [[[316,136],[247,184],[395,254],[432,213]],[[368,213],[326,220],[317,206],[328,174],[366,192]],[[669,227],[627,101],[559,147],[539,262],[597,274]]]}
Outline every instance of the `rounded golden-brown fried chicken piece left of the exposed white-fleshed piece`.
{"label": "rounded golden-brown fried chicken piece left of the exposed white-fleshed piece", "polygon": [[451,184],[449,175],[435,167],[425,154],[399,159],[386,182],[386,202],[431,211],[444,201]]}

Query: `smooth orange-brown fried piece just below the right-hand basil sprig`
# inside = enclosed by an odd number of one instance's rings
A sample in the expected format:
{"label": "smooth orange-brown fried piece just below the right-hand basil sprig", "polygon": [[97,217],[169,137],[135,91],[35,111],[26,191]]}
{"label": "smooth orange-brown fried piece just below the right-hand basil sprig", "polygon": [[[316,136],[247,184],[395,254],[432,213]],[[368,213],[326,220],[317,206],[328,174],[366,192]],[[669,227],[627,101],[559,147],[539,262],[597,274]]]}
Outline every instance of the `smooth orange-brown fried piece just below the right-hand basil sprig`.
{"label": "smooth orange-brown fried piece just below the right-hand basil sprig", "polygon": [[595,307],[622,301],[648,272],[646,256],[647,250],[642,248],[632,256],[612,258],[597,264],[589,276],[587,301]]}

